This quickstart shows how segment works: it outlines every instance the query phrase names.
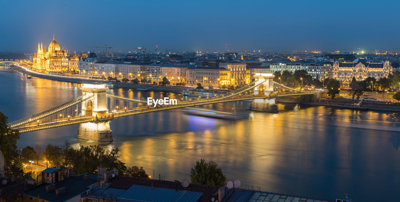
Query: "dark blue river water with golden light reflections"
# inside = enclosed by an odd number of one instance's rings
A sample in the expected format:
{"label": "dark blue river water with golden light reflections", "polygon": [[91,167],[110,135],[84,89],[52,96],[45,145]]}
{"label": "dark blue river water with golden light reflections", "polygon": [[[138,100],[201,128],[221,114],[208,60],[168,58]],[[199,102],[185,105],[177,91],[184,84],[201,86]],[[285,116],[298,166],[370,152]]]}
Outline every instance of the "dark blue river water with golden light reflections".
{"label": "dark blue river water with golden light reflections", "polygon": [[[8,70],[8,67],[0,67]],[[9,71],[9,70],[8,70]],[[80,96],[80,84],[27,79],[0,71],[0,111],[9,122]],[[181,95],[111,89],[128,98]],[[188,98],[184,98],[188,99]],[[230,112],[242,120],[192,116],[181,109],[113,120],[112,144],[127,166],[143,166],[166,180],[190,179],[196,160],[214,160],[228,180],[263,191],[354,201],[399,201],[400,114],[341,110],[326,106],[279,104],[279,113],[250,111],[250,102],[203,106]],[[76,138],[78,125],[21,134],[18,148],[98,144]]]}

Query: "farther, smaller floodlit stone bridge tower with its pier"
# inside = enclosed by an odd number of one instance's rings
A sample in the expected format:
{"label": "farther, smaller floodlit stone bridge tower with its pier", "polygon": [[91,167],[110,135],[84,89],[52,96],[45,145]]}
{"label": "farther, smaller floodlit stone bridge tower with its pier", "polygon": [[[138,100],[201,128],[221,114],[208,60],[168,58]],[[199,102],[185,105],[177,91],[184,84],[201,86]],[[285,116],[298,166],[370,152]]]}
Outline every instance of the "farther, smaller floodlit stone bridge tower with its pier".
{"label": "farther, smaller floodlit stone bridge tower with its pier", "polygon": [[[274,78],[274,75],[272,73],[256,73],[254,78],[256,80],[258,79],[255,85],[263,82],[254,88],[254,94],[272,96],[271,93],[274,91],[272,79]],[[275,104],[275,99],[255,99],[251,103],[250,109],[263,112],[278,112],[278,106]]]}

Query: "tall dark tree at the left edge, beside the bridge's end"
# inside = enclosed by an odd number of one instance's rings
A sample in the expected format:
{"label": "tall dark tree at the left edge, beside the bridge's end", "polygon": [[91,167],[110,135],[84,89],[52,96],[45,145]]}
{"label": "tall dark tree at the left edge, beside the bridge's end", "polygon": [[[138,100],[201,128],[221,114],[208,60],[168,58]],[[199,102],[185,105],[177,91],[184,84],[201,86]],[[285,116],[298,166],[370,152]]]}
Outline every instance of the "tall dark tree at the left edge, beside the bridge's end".
{"label": "tall dark tree at the left edge, beside the bridge's end", "polygon": [[18,158],[17,141],[20,139],[18,130],[11,130],[7,120],[8,117],[0,112],[0,150],[4,155],[5,167]]}

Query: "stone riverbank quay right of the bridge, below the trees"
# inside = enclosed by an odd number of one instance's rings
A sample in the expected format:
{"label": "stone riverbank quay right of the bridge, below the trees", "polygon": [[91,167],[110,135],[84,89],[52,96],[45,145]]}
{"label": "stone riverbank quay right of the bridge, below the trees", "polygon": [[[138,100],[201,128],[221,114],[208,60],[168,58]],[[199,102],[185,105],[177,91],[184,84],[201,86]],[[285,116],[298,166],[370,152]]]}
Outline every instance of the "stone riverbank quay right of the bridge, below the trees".
{"label": "stone riverbank quay right of the bridge, below the trees", "polygon": [[[318,98],[315,101],[304,101],[300,100],[300,97],[296,96],[288,96],[288,97],[279,97],[275,100],[278,103],[293,103],[293,104],[305,104],[305,105],[314,105],[314,106],[354,106],[360,102],[360,100],[351,100],[346,98],[335,98],[330,99],[328,97]],[[381,111],[391,111],[391,112],[400,112],[400,102],[363,102],[360,107],[368,107],[368,110],[381,110]]]}

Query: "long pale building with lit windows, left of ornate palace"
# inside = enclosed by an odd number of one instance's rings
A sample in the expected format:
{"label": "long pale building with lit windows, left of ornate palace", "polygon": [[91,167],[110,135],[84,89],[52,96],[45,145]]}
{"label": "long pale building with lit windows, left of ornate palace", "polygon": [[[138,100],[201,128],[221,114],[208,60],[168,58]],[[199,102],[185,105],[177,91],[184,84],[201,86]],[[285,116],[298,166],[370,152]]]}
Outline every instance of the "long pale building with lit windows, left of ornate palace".
{"label": "long pale building with lit windows, left of ornate palace", "polygon": [[333,70],[332,62],[288,62],[288,63],[273,63],[270,65],[270,70],[272,73],[284,72],[288,70],[289,72],[294,72],[296,70],[306,70],[312,78],[321,80],[325,78],[332,78]]}

